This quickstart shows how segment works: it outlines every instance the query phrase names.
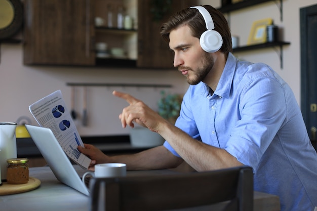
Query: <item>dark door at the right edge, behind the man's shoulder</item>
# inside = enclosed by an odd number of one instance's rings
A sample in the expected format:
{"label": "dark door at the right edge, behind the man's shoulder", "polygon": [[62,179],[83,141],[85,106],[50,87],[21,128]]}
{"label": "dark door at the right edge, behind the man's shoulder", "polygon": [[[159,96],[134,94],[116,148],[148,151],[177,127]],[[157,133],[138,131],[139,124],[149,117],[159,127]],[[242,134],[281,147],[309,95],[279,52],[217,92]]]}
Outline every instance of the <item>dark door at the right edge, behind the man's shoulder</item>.
{"label": "dark door at the right edge, behind the man's shoulder", "polygon": [[300,9],[301,109],[317,148],[317,5]]}

